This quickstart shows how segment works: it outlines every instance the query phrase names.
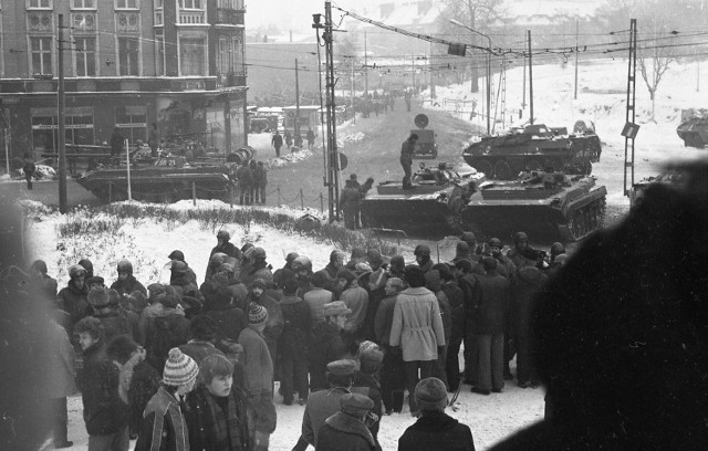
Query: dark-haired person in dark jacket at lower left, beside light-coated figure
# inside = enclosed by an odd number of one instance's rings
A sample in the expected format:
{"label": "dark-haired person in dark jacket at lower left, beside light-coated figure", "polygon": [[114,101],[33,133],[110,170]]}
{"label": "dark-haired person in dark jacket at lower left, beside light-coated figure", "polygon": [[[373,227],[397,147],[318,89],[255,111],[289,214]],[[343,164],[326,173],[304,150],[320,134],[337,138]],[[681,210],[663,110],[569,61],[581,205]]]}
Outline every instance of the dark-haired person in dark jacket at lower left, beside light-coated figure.
{"label": "dark-haired person in dark jacket at lower left, beside light-coated figure", "polygon": [[119,371],[106,357],[101,322],[83,318],[74,333],[79,334],[84,354],[80,387],[88,450],[127,451],[128,403],[119,397]]}

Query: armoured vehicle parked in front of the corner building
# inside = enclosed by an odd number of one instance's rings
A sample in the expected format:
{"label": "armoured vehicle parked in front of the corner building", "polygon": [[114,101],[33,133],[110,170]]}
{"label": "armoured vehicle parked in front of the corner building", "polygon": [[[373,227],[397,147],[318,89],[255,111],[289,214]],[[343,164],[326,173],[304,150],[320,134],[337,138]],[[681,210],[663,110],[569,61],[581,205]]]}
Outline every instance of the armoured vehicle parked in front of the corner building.
{"label": "armoured vehicle parked in front of the corner building", "polygon": [[[160,156],[152,164],[131,165],[131,197],[148,202],[176,202],[181,199],[227,201],[233,175],[223,164],[187,164],[184,157]],[[76,178],[79,185],[106,201],[128,198],[127,166],[98,168]]]}

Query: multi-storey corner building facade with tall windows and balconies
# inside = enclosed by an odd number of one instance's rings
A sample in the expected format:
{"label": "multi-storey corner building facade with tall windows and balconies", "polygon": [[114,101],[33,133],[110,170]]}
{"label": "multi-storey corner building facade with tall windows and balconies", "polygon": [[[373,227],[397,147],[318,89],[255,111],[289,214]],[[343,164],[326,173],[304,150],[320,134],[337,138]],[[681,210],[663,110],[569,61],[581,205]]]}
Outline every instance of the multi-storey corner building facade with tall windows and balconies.
{"label": "multi-storey corner building facade with tall windows and balconies", "polygon": [[244,13],[243,0],[0,0],[0,144],[56,151],[63,60],[66,144],[114,127],[146,141],[156,123],[164,139],[244,145]]}

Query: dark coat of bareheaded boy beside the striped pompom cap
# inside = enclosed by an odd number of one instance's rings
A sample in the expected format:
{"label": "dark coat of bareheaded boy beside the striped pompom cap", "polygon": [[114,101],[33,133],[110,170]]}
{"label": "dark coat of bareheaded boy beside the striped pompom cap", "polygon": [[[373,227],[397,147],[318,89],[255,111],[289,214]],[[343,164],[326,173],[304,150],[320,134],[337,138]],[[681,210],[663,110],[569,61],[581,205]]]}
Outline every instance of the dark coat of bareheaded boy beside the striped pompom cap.
{"label": "dark coat of bareheaded boy beside the striped pompom cap", "polygon": [[[246,392],[235,385],[223,399],[227,400],[226,403],[217,402],[216,397],[204,385],[195,387],[187,397],[185,420],[189,429],[189,451],[244,451],[250,449]],[[226,413],[222,406],[227,409]],[[232,407],[233,409],[231,409]],[[228,437],[222,441],[217,438],[217,420],[214,418],[212,411],[227,419],[226,432]],[[232,417],[229,415],[231,412]]]}

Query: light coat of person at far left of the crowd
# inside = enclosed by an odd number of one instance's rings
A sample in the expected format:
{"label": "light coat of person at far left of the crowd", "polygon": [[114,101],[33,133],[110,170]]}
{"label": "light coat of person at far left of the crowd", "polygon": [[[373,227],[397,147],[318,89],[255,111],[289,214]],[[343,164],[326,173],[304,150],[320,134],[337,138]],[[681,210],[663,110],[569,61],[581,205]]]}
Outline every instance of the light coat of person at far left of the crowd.
{"label": "light coat of person at far left of the crowd", "polygon": [[49,374],[46,391],[50,398],[65,398],[75,394],[74,348],[69,340],[69,334],[55,321],[49,322],[50,346]]}

